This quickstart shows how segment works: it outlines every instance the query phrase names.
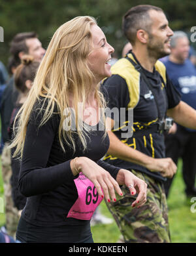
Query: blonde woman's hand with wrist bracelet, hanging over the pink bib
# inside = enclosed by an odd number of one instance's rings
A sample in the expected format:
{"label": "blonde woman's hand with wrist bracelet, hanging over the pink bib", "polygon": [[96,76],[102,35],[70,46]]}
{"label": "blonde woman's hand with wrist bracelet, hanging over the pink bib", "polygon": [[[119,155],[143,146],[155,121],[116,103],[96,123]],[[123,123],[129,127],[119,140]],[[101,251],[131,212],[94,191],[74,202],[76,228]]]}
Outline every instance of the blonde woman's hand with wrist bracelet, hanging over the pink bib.
{"label": "blonde woman's hand with wrist bracelet, hanging over the pink bib", "polygon": [[97,165],[93,160],[90,160],[90,158],[82,156],[77,158],[75,161],[71,160],[70,164],[73,175],[75,176],[79,171],[82,171],[82,173],[84,173],[84,175],[93,182],[99,196],[102,198],[105,196],[105,199],[108,202],[110,202],[110,200],[116,202],[115,190],[120,196],[123,195],[118,182],[115,181],[110,173]]}

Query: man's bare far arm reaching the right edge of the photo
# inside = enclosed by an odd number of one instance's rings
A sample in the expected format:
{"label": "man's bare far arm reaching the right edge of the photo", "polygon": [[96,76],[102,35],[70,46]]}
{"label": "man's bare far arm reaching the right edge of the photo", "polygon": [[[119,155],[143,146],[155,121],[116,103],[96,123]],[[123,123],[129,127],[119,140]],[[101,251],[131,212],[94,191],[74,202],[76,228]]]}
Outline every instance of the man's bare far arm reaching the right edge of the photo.
{"label": "man's bare far arm reaching the right edge of the photo", "polygon": [[179,125],[196,129],[196,110],[182,100],[177,106],[167,110],[167,115],[172,117]]}

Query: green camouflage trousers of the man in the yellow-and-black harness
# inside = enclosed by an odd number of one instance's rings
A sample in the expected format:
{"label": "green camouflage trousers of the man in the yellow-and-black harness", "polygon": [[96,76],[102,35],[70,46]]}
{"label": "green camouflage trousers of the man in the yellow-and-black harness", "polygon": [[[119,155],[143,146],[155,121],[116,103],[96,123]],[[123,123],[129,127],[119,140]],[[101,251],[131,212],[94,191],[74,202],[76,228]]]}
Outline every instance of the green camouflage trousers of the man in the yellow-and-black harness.
{"label": "green camouflage trousers of the man in the yellow-and-black harness", "polygon": [[122,186],[123,197],[106,205],[112,213],[126,243],[169,243],[167,200],[163,184],[139,171],[131,172],[148,184],[147,201],[140,208],[131,207],[136,196]]}

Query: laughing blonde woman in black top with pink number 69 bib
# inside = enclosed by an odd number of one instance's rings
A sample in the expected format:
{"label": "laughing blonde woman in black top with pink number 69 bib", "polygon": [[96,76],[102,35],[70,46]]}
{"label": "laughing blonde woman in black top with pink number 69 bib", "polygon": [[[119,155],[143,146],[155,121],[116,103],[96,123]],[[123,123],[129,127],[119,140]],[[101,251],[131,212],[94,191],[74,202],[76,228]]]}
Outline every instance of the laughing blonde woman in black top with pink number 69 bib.
{"label": "laughing blonde woman in black top with pink number 69 bib", "polygon": [[18,113],[14,156],[22,157],[20,192],[27,197],[16,238],[21,242],[93,242],[90,219],[118,184],[146,202],[146,183],[100,159],[109,140],[99,82],[111,75],[114,49],[94,18],[76,17],[57,29]]}

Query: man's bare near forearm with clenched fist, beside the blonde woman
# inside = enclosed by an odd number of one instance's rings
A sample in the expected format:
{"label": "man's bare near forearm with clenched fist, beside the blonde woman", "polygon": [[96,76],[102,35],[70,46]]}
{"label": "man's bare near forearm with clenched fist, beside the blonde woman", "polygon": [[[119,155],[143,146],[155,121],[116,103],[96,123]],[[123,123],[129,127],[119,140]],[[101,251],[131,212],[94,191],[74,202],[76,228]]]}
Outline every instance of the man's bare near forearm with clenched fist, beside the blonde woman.
{"label": "man's bare near forearm with clenched fist, beside the blonde woman", "polygon": [[163,177],[172,177],[176,173],[176,165],[171,158],[152,158],[124,144],[112,131],[114,120],[107,117],[106,119],[108,136],[110,138],[110,147],[107,154],[115,156],[125,161],[137,163],[149,169],[150,171],[159,171]]}

